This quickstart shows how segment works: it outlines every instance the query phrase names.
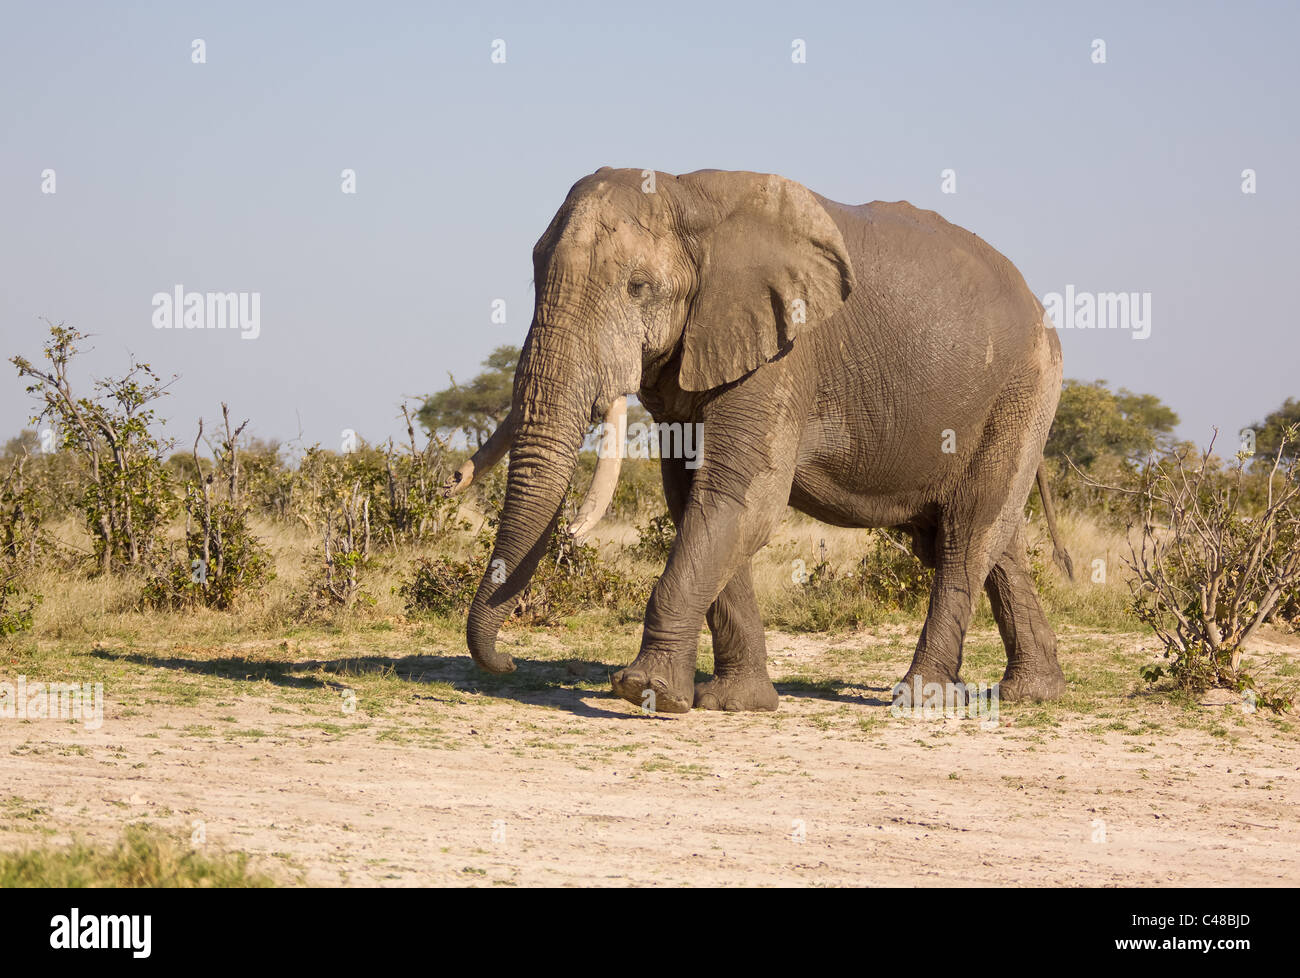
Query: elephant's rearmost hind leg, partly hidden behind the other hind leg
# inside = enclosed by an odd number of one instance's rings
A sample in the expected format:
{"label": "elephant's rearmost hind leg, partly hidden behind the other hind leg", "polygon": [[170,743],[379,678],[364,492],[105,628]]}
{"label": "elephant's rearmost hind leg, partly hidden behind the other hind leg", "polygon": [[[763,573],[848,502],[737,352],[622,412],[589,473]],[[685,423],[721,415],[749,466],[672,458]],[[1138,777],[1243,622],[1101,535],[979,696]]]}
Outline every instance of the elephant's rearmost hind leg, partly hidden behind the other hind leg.
{"label": "elephant's rearmost hind leg, partly hidden behind the other hind leg", "polygon": [[1035,593],[1020,531],[993,564],[984,590],[1006,646],[1006,675],[997,685],[998,698],[1060,697],[1065,692],[1065,675],[1056,657],[1056,635]]}

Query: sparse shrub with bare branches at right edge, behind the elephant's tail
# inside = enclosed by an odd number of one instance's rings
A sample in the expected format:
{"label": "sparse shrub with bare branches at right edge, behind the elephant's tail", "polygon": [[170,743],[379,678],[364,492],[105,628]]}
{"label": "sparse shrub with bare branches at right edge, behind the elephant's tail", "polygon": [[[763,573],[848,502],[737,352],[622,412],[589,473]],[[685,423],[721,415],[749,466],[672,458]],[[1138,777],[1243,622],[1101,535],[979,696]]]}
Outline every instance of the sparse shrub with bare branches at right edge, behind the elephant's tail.
{"label": "sparse shrub with bare branches at right edge, behind the elephant's tail", "polygon": [[[1217,436],[1217,432],[1216,432]],[[1188,689],[1252,691],[1273,709],[1290,700],[1256,688],[1242,671],[1247,641],[1300,588],[1300,463],[1284,463],[1296,429],[1279,440],[1262,509],[1243,505],[1247,453],[1216,472],[1212,451],[1188,466],[1175,451],[1154,463],[1141,490],[1140,542],[1127,563],[1138,618],[1156,632],[1170,675]],[[1158,679],[1161,667],[1144,670]]]}

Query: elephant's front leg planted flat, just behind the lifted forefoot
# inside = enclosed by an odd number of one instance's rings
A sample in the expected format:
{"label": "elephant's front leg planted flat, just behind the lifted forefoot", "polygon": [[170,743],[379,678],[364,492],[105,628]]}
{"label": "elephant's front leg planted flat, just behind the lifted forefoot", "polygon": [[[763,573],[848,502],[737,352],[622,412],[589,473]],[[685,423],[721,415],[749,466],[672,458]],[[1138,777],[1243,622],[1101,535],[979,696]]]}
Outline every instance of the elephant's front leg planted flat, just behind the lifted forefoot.
{"label": "elephant's front leg planted flat, just behind the lifted forefoot", "polygon": [[714,636],[714,678],[696,683],[696,709],[775,710],[776,687],[767,675],[767,637],[750,564],[736,571],[706,618]]}

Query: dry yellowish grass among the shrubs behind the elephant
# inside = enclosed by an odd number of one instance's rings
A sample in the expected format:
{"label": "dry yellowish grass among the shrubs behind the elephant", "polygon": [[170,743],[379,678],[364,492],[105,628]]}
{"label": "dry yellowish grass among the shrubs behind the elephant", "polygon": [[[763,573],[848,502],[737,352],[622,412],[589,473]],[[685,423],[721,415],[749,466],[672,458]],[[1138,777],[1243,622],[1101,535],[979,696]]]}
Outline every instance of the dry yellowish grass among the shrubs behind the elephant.
{"label": "dry yellowish grass among the shrubs behind the elephant", "polygon": [[[476,524],[481,519],[471,516]],[[1074,557],[1075,581],[1066,580],[1045,557],[1050,553],[1050,544],[1044,527],[1030,527],[1030,544],[1041,546],[1044,554],[1039,559],[1043,601],[1062,642],[1069,636],[1075,642],[1087,637],[1089,642],[1098,641],[1105,649],[1122,648],[1126,661],[1132,659],[1135,649],[1145,646],[1143,661],[1156,662],[1158,655],[1152,636],[1128,611],[1127,570],[1121,559],[1126,553],[1123,536],[1071,514],[1063,515],[1061,524],[1065,542]],[[377,555],[363,577],[365,592],[372,598],[365,605],[352,609],[312,609],[306,606],[303,594],[308,589],[312,571],[309,562],[316,548],[315,536],[300,525],[274,523],[263,523],[256,531],[274,555],[276,577],[263,594],[235,611],[195,609],[181,614],[150,610],[139,601],[140,580],[129,576],[104,579],[56,571],[36,575],[30,584],[44,600],[36,609],[34,628],[10,641],[10,663],[26,659],[34,666],[38,661],[44,661],[51,666],[57,663],[57,668],[69,668],[73,663],[68,657],[84,654],[87,648],[162,654],[168,649],[183,646],[213,649],[222,658],[234,653],[237,657],[266,661],[283,658],[286,649],[290,654],[313,649],[315,657],[329,658],[338,649],[346,649],[358,641],[377,654],[391,657],[400,657],[413,645],[429,641],[438,644],[448,654],[464,654],[463,619],[412,619],[403,598],[396,593],[398,587],[411,575],[412,562],[417,557],[429,555],[436,548],[406,548]],[[69,540],[74,532],[72,525],[62,527],[60,537]],[[861,606],[836,607],[833,614],[828,614],[826,609],[810,609],[819,600],[818,596],[810,594],[792,580],[793,561],[802,559],[807,567],[812,567],[823,559],[823,554],[831,567],[840,572],[850,571],[867,546],[868,533],[863,529],[827,527],[802,515],[789,514],[754,563],[759,605],[768,629],[845,635],[853,632],[855,626],[887,627],[907,636],[905,644],[914,642],[924,611],[923,602],[910,609],[898,609],[875,606],[870,600],[861,598],[854,600]],[[636,538],[637,529],[633,524],[606,522],[598,528],[593,542],[602,557],[621,574],[632,579],[658,575],[662,571],[660,563],[637,559],[628,551]],[[460,535],[446,545],[446,550],[458,557],[471,555],[473,533]],[[1104,581],[1095,574],[1093,561],[1104,562]],[[829,600],[838,598],[832,596]],[[836,627],[827,629],[826,622],[836,623]],[[988,600],[983,594],[971,627],[972,635],[989,632],[996,636]],[[573,642],[589,644],[599,636],[602,661],[615,666],[627,662],[628,652],[636,648],[638,629],[640,622],[628,620],[628,615],[620,619],[612,611],[593,609],[569,616],[558,629],[508,626],[503,641],[525,646],[538,642],[545,648],[555,645],[556,654],[563,655],[567,654],[564,649]],[[993,646],[997,648],[991,646],[989,654],[1000,658],[1002,653],[998,642],[994,641]],[[701,636],[702,668],[708,667],[710,654],[708,635],[705,631]],[[1275,657],[1265,658],[1261,675],[1274,672],[1275,665],[1280,670],[1279,679],[1287,683],[1294,680],[1296,667],[1290,658],[1277,659],[1274,665],[1270,662]],[[900,662],[900,668],[905,665]],[[1128,668],[1131,665],[1126,666]],[[1132,679],[1132,675],[1124,676],[1126,683]]]}

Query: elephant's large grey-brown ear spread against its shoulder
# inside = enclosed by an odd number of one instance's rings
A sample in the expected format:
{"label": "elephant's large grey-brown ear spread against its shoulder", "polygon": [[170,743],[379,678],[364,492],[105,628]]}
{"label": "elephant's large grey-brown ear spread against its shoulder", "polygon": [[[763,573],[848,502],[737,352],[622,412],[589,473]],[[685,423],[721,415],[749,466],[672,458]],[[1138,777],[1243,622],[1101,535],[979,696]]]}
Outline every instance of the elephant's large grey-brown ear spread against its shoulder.
{"label": "elephant's large grey-brown ear spread against its shoulder", "polygon": [[835,315],[853,291],[853,264],[826,208],[793,181],[724,170],[679,179],[720,215],[694,231],[698,289],[680,373],[684,390],[710,390]]}

